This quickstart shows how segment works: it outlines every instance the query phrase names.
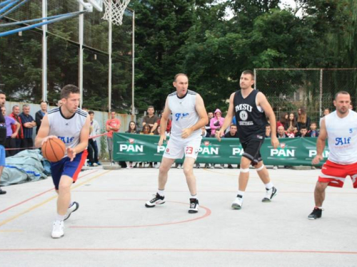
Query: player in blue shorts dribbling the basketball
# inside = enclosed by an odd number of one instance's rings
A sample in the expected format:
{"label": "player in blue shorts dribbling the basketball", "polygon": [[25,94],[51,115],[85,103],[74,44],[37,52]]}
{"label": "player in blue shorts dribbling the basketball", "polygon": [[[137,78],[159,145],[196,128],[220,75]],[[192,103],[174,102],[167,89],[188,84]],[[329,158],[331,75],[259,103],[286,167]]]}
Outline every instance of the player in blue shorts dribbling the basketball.
{"label": "player in blue shorts dribbling the basketball", "polygon": [[79,208],[71,203],[71,184],[76,182],[87,157],[90,120],[87,112],[79,107],[79,88],[66,85],[61,90],[62,105],[50,110],[42,119],[35,145],[41,147],[49,139],[59,138],[66,144],[66,155],[59,162],[51,163],[54,187],[59,194],[57,214],[52,229],[52,238],[64,236],[64,220]]}

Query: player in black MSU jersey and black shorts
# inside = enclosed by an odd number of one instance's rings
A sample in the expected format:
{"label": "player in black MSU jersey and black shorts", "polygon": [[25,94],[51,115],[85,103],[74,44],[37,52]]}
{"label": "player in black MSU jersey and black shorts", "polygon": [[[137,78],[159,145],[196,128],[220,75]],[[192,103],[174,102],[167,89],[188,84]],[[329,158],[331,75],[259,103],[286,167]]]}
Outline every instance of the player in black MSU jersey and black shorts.
{"label": "player in black MSU jersey and black shorts", "polygon": [[224,119],[221,130],[216,133],[218,140],[224,135],[224,131],[231,124],[235,115],[238,127],[238,137],[243,147],[244,153],[241,157],[241,172],[238,178],[238,194],[232,203],[232,209],[241,209],[243,205],[244,192],[249,179],[249,165],[252,164],[258,172],[258,176],[266,187],[266,196],[263,202],[270,202],[278,192],[273,186],[268,174],[268,170],[261,159],[261,145],[264,142],[268,117],[271,125],[271,145],[278,147],[276,137],[276,118],[268,103],[266,96],[254,90],[254,74],[251,70],[245,70],[241,74],[241,90],[232,93],[229,98],[228,113]]}

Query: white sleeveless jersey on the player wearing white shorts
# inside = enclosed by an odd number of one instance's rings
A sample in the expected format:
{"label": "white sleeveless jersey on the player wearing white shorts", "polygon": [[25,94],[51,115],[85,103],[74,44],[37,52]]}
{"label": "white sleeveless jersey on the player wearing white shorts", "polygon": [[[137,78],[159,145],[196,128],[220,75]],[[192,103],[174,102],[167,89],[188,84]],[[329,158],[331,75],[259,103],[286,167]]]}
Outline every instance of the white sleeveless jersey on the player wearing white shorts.
{"label": "white sleeveless jersey on the player wearing white shorts", "polygon": [[[176,92],[171,93],[169,98],[169,109],[172,112],[172,124],[170,138],[182,140],[182,130],[195,125],[200,117],[196,111],[196,92],[188,90],[183,98],[178,98]],[[201,129],[191,133],[185,140],[201,137]]]}

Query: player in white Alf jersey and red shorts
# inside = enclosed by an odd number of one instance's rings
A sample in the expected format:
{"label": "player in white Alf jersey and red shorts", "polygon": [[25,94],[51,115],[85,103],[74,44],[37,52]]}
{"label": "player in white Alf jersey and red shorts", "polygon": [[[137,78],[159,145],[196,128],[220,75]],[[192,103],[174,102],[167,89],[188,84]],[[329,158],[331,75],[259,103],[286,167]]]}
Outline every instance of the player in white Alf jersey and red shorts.
{"label": "player in white Alf jersey and red shorts", "polygon": [[349,110],[350,104],[351,97],[347,92],[336,93],[333,100],[336,110],[321,119],[320,135],[316,142],[317,155],[312,164],[318,164],[323,159],[326,139],[330,152],[316,183],[315,208],[308,219],[321,218],[326,187],[343,187],[349,175],[353,187],[357,188],[357,113]]}

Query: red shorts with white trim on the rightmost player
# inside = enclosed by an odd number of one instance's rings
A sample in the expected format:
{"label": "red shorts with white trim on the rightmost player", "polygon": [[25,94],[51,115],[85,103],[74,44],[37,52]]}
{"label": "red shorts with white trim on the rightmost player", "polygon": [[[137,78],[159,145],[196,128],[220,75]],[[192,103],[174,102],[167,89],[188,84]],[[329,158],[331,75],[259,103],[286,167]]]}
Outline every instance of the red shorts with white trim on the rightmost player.
{"label": "red shorts with white trim on the rightmost player", "polygon": [[318,176],[318,182],[327,182],[329,187],[343,187],[347,176],[351,177],[353,188],[357,188],[357,162],[343,165],[326,160]]}

